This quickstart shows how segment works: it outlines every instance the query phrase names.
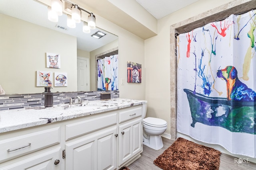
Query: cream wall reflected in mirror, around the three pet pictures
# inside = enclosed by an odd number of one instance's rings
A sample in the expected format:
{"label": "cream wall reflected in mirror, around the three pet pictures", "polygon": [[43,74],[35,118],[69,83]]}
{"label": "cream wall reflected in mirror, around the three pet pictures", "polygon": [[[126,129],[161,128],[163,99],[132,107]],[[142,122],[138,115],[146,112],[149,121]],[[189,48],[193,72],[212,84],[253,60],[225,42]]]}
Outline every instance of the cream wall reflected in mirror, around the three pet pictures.
{"label": "cream wall reflected in mirror, around the three pet pictures", "polygon": [[[76,37],[0,14],[0,84],[6,94],[44,92],[36,87],[36,71],[68,73],[68,87],[77,91]],[[59,54],[61,68],[46,68],[46,53]]]}

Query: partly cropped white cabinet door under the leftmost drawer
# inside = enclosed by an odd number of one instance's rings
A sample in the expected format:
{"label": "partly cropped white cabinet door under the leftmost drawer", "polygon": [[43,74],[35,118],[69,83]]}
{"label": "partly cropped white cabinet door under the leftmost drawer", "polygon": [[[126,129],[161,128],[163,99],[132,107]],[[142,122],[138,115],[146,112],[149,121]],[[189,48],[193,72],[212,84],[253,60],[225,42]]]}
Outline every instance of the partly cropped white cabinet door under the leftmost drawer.
{"label": "partly cropped white cabinet door under the leftmost drawer", "polygon": [[1,170],[60,170],[60,148],[0,168]]}

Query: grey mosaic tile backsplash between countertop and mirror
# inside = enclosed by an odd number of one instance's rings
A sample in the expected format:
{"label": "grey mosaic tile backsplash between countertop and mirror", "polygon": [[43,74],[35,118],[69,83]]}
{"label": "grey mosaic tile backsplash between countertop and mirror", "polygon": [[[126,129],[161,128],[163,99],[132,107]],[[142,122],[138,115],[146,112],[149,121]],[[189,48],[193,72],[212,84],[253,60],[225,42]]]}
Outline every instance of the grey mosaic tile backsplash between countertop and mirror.
{"label": "grey mosaic tile backsplash between countertop and mirror", "polygon": [[[119,98],[119,91],[108,91],[110,92],[110,98]],[[68,104],[71,97],[73,99],[76,96],[82,98],[84,101],[100,100],[100,94],[102,91],[95,92],[56,92],[53,94],[53,104]],[[28,107],[40,107],[44,106],[44,93],[36,94],[11,94],[0,96],[0,111],[11,110],[11,109],[22,109]]]}

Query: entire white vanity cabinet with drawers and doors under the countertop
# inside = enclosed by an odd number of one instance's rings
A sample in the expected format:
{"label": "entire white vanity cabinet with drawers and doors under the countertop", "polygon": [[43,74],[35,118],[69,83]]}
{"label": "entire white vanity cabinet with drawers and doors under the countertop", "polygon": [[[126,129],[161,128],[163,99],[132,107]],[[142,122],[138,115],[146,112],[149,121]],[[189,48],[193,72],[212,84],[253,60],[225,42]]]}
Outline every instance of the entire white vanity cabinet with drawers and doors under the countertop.
{"label": "entire white vanity cabinet with drawers and doors under the countertop", "polygon": [[118,170],[142,152],[142,105],[1,135],[1,170]]}

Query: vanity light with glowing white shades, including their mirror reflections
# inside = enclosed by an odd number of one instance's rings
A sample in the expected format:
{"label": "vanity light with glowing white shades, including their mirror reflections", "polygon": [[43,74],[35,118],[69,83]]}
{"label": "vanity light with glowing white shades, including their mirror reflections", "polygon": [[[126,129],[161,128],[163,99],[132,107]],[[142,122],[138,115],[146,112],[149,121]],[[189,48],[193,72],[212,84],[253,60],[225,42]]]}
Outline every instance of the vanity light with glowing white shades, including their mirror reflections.
{"label": "vanity light with glowing white shades, including their mirror reflections", "polygon": [[[51,0],[52,6],[48,6],[48,20],[52,22],[58,22],[58,16],[62,15],[62,1],[65,1],[66,3],[71,5],[71,18],[70,15],[68,15],[67,19],[68,27],[75,28],[76,23],[81,22],[81,12],[84,11],[88,13],[89,16],[87,24],[83,21],[83,32],[90,33],[90,29],[96,28],[96,18],[92,12],[88,12],[80,8],[78,5],[68,2],[67,0]],[[100,35],[100,37],[102,37],[102,35]]]}

